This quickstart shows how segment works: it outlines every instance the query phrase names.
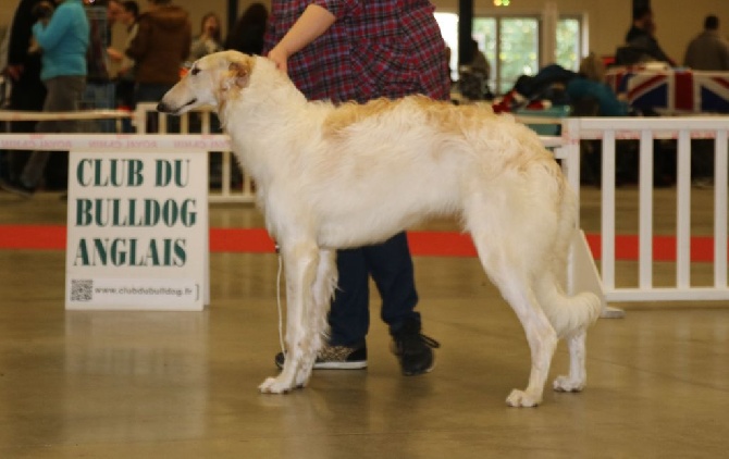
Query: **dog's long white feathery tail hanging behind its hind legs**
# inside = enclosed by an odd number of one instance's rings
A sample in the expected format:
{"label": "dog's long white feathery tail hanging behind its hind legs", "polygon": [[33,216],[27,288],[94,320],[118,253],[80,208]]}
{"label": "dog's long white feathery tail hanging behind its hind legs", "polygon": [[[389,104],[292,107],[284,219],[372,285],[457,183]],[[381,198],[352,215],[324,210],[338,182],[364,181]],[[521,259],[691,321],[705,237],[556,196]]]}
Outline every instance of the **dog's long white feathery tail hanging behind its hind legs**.
{"label": "dog's long white feathery tail hanging behind its hind legs", "polygon": [[567,255],[578,230],[576,225],[577,198],[567,183],[564,183],[563,186],[556,244],[552,250],[551,262],[544,266],[543,273],[536,274],[534,285],[544,313],[560,337],[592,324],[600,317],[602,309],[600,298],[591,291],[578,293],[571,297],[565,293]]}

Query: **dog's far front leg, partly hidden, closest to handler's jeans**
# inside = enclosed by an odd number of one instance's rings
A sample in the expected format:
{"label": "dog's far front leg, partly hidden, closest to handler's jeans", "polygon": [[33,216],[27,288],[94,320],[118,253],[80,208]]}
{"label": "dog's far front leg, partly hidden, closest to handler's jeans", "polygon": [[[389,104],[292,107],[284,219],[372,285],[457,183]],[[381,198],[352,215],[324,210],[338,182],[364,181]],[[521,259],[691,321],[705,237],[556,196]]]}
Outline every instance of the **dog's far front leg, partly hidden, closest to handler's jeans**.
{"label": "dog's far front leg, partly hidden, closest to handler's jeans", "polygon": [[313,368],[317,353],[324,345],[329,322],[326,313],[329,312],[334,288],[336,288],[336,251],[321,249],[319,251],[319,263],[317,265],[317,276],[312,288],[312,311],[305,318],[312,333],[313,352],[306,353],[301,365],[296,373],[296,386],[304,387],[309,382],[311,369]]}

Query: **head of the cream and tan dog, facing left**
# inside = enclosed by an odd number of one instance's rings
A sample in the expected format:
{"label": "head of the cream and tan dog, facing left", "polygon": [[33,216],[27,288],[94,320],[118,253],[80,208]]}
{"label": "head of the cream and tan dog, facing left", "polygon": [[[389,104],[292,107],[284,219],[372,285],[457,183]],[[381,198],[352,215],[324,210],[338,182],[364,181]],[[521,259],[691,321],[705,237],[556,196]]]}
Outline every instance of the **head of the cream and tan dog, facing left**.
{"label": "head of the cream and tan dog, facing left", "polygon": [[231,91],[248,85],[255,63],[255,58],[237,51],[208,54],[162,97],[157,110],[180,115],[200,106],[218,108]]}

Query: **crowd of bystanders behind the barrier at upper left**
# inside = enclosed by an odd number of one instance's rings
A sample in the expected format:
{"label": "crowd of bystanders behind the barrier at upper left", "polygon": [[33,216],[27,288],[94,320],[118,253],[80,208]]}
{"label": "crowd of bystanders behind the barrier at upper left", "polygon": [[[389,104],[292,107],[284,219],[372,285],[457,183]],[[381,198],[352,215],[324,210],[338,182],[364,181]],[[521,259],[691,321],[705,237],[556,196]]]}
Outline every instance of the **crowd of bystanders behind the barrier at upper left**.
{"label": "crowd of bystanders behind the barrier at upper left", "polygon": [[[199,34],[193,36],[189,13],[173,0],[145,3],[21,0],[3,44],[8,51],[2,73],[11,87],[5,108],[30,112],[133,110],[139,102],[158,101],[180,79],[186,63],[207,53],[222,49],[261,53],[268,20],[262,3],[244,12],[225,40],[213,12],[203,16]],[[121,49],[112,47],[115,24],[125,32]],[[156,129],[155,120],[150,116],[148,132]],[[74,133],[108,132],[114,126],[112,121],[28,121],[14,122],[10,128],[15,133]],[[124,122],[124,131],[134,131],[131,122]],[[65,158],[47,151],[1,151],[0,187],[23,197],[33,196],[41,186],[62,189]]]}

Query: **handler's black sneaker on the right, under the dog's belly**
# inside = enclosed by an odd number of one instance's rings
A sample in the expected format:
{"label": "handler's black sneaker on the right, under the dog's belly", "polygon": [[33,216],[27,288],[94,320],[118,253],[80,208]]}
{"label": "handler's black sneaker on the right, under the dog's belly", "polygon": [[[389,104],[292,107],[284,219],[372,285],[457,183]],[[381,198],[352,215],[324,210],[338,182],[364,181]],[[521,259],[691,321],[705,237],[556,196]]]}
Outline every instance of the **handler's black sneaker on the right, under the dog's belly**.
{"label": "handler's black sneaker on the right, under the dog's belly", "polygon": [[420,333],[420,323],[406,322],[393,334],[392,351],[406,376],[428,373],[435,367],[433,349],[441,347],[435,339]]}

